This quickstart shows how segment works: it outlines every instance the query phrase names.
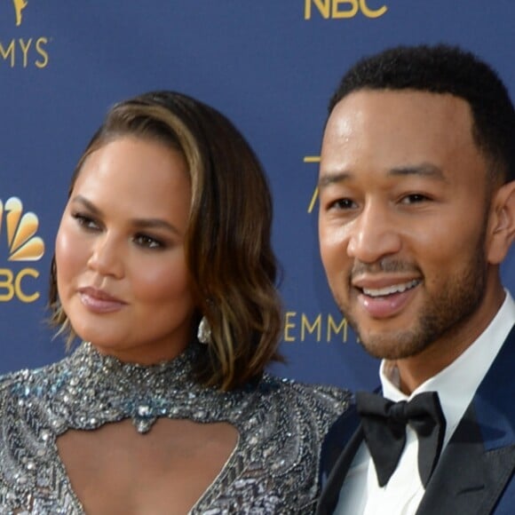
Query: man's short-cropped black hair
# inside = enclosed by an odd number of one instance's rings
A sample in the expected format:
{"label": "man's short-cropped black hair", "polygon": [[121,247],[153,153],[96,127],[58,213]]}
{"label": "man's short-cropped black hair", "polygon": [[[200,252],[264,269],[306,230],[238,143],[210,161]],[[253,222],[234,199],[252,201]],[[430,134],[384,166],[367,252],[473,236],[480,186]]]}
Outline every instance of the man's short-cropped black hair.
{"label": "man's short-cropped black hair", "polygon": [[476,145],[492,177],[515,180],[515,108],[495,70],[447,44],[398,46],[358,61],[329,101],[329,115],[353,91],[415,90],[451,94],[471,107]]}

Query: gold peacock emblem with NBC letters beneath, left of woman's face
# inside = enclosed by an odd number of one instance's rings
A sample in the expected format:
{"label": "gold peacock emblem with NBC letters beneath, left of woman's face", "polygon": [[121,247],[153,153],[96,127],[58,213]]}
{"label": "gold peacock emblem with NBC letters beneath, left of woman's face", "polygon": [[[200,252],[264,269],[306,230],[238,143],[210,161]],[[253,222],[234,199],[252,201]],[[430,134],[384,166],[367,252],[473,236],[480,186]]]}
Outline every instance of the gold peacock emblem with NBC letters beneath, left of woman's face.
{"label": "gold peacock emblem with NBC letters beneath, left of woman's face", "polygon": [[[38,261],[44,255],[44,241],[36,236],[39,220],[32,212],[23,213],[23,204],[18,197],[5,203],[0,201],[0,235],[6,236],[8,261]],[[34,302],[39,292],[28,294],[22,282],[27,277],[37,278],[34,268],[23,268],[15,273],[9,268],[0,268],[0,302],[18,297],[22,302]]]}

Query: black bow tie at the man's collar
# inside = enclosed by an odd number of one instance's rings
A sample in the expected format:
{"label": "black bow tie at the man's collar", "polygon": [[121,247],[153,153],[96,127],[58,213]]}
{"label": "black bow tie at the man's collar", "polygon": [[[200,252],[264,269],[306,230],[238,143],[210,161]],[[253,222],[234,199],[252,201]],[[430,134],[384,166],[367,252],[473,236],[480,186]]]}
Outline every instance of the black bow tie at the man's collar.
{"label": "black bow tie at the man's collar", "polygon": [[376,393],[357,392],[356,407],[379,486],[384,487],[399,463],[409,423],[418,437],[418,473],[425,487],[438,462],[445,434],[438,393],[424,392],[408,402],[392,402]]}

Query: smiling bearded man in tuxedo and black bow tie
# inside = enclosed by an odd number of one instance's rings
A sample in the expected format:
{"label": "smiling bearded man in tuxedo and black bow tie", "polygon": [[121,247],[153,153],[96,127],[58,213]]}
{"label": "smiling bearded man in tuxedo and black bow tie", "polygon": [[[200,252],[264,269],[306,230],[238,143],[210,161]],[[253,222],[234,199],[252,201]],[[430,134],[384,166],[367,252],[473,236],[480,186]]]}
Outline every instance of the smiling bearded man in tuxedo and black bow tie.
{"label": "smiling bearded man in tuxedo and black bow tie", "polygon": [[511,99],[471,53],[400,47],[340,83],[321,258],[382,389],[329,432],[320,515],[515,513],[514,178]]}

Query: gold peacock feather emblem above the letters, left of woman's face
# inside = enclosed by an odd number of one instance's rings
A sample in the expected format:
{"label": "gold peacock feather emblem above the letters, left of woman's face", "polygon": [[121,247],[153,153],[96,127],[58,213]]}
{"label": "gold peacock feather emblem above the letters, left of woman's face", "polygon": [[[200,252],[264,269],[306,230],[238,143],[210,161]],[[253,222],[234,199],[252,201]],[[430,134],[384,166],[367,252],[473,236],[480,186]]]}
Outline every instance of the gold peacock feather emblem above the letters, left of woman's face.
{"label": "gold peacock feather emblem above the letters, left of woman's face", "polygon": [[[5,217],[4,217],[5,211]],[[36,236],[39,220],[32,212],[23,213],[18,197],[11,197],[5,204],[0,201],[0,232],[4,218],[9,248],[9,261],[37,261],[44,255],[44,241]]]}

